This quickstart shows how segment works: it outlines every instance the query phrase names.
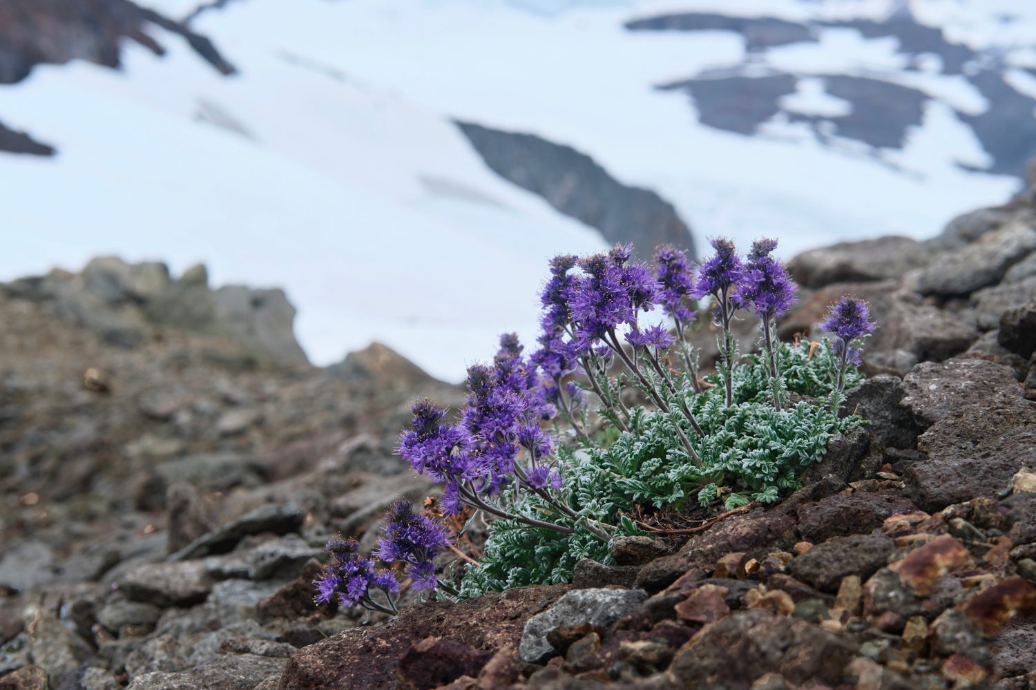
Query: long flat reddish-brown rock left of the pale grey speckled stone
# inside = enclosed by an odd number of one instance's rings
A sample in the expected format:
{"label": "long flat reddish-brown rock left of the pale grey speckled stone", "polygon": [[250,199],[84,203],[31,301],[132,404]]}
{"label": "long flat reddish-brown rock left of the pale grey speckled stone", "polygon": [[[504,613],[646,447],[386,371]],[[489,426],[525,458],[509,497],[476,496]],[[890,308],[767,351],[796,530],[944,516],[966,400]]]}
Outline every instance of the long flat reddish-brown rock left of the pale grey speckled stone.
{"label": "long flat reddish-brown rock left of the pale grey speckled stone", "polygon": [[395,690],[396,660],[412,643],[441,637],[487,652],[517,648],[529,616],[568,591],[567,585],[536,585],[407,608],[388,625],[347,630],[299,650],[285,667],[281,689]]}

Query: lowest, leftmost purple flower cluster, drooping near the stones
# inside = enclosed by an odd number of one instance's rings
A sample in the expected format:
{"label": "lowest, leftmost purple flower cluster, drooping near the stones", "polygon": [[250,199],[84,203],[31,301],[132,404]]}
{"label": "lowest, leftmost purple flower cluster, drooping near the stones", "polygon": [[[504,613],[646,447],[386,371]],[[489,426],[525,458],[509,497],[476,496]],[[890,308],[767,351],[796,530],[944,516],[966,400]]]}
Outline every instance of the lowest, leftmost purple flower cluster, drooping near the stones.
{"label": "lowest, leftmost purple flower cluster, drooping near the stones", "polygon": [[[359,545],[354,540],[333,539],[326,548],[332,559],[320,578],[313,582],[317,588],[313,598],[316,603],[337,599],[347,608],[359,605],[378,611],[395,610],[399,582],[391,571],[375,570],[374,563],[359,553]],[[385,605],[373,598],[375,590],[382,593]]]}

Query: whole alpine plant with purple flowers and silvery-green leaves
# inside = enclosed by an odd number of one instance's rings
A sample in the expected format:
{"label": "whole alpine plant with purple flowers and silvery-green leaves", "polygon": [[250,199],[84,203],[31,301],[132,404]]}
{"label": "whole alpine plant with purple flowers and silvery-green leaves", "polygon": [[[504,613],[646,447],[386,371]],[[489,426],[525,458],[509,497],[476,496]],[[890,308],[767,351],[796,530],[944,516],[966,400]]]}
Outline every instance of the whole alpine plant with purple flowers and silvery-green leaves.
{"label": "whole alpine plant with purple flowers and silvery-green leaves", "polygon": [[[821,324],[832,340],[782,343],[796,285],[777,241],[758,239],[746,257],[729,239],[711,245],[696,268],[669,246],[648,263],[622,245],[552,259],[535,347],[502,336],[491,362],[468,369],[456,414],[430,400],[410,408],[397,452],[440,485],[435,512],[397,500],[371,557],[329,543],[316,600],[393,613],[401,584],[457,598],[564,582],[582,558],[608,563],[614,538],[645,534],[632,514],[731,510],[798,488],[828,439],[862,423],[839,411],[862,380],[868,307],[842,297]],[[760,338],[742,356],[733,332],[745,318]],[[719,354],[701,375],[692,335],[710,320]],[[478,562],[443,575],[478,514],[489,525]]]}

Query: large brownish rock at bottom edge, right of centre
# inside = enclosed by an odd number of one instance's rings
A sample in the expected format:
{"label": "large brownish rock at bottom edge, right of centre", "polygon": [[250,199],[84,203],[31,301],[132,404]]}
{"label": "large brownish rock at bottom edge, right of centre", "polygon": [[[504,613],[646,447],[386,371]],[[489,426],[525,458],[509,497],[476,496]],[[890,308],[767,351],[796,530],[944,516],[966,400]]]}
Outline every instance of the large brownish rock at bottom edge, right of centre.
{"label": "large brownish rock at bottom edge, right of centre", "polygon": [[748,688],[768,672],[795,685],[834,687],[852,658],[845,641],[816,626],[762,610],[735,611],[678,650],[669,672],[681,687]]}

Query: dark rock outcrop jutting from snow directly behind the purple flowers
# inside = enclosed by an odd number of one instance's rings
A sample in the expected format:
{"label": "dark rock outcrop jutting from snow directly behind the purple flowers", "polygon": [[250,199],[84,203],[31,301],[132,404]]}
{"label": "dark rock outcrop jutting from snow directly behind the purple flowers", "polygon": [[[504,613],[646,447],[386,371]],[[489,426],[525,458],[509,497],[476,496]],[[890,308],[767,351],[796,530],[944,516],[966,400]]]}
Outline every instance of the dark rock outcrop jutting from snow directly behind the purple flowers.
{"label": "dark rock outcrop jutting from snow directly behind the purple flowers", "polygon": [[672,204],[623,184],[585,153],[531,134],[474,122],[457,126],[496,174],[597,228],[607,242],[633,242],[641,252],[668,243],[694,255],[690,230]]}

